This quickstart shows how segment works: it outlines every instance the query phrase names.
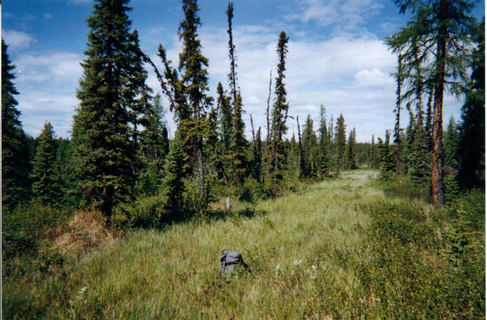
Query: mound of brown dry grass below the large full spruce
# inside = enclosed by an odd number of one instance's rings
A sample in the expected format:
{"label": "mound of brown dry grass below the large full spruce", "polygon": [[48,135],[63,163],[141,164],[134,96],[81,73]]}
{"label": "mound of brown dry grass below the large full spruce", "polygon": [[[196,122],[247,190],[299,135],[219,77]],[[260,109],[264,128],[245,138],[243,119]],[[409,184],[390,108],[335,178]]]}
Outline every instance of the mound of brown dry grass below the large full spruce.
{"label": "mound of brown dry grass below the large full spruce", "polygon": [[106,246],[115,239],[106,228],[106,218],[96,212],[78,212],[64,234],[56,238],[56,247],[74,257]]}

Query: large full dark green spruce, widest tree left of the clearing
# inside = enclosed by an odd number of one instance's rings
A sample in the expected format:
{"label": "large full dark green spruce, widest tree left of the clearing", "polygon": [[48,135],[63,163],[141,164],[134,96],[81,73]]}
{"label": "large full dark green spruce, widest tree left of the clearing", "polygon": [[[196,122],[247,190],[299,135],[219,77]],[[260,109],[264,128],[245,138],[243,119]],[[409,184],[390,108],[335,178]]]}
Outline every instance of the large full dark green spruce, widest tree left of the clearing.
{"label": "large full dark green spruce, widest tree left of the clearing", "polygon": [[134,113],[144,88],[139,39],[130,31],[128,0],[98,0],[87,20],[88,48],[74,115],[78,190],[86,204],[111,215],[135,182]]}

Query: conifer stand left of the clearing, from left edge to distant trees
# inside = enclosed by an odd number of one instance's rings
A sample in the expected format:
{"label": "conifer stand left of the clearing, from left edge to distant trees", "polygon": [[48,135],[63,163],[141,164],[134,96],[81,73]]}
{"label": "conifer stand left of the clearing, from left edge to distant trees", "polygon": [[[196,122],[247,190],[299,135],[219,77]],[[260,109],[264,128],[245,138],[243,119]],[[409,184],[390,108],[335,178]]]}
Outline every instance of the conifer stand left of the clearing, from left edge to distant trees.
{"label": "conifer stand left of the clearing, from left edge to distant trees", "polygon": [[[343,115],[328,118],[321,105],[317,134],[311,115],[300,123],[288,113],[285,31],[276,45],[277,75],[269,77],[266,128],[253,128],[250,115],[248,140],[238,85],[233,4],[226,9],[229,76],[218,83],[215,98],[209,95],[209,60],[201,52],[196,0],[182,1],[184,19],[178,35],[183,46],[178,63],[167,58],[162,44],[157,49],[164,66],[161,71],[141,51],[128,4],[129,0],[96,1],[87,19],[86,58],[76,92],[80,103],[69,139],[56,138],[49,122],[35,139],[24,133],[16,108],[14,65],[2,40],[4,214],[31,204],[96,210],[111,217],[114,210],[124,211],[120,206],[150,199],[177,217],[206,212],[209,202],[218,197],[243,197],[249,190],[252,197],[274,196],[286,182],[337,175],[355,169],[359,162],[374,162],[371,146],[356,143],[355,128],[347,139]],[[154,68],[174,114],[173,139],[162,97],[146,84],[146,66]],[[288,123],[294,120],[298,136],[286,138]]]}

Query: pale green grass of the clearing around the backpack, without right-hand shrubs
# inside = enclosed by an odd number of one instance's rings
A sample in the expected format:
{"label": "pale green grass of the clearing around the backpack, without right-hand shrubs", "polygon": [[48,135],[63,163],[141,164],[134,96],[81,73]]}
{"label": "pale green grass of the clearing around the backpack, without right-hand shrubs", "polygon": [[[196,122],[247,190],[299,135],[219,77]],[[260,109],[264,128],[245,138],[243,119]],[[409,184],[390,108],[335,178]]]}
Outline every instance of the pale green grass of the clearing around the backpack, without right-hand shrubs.
{"label": "pale green grass of the clearing around the backpack, without right-hand shrubs", "polygon": [[[7,306],[12,319],[19,310],[44,319],[379,318],[391,305],[363,280],[376,279],[363,269],[377,256],[366,212],[386,201],[374,175],[300,185],[252,214],[239,203],[227,215],[129,232],[64,272],[38,272],[34,285],[4,282],[4,314]],[[241,252],[251,272],[221,277],[222,249]]]}

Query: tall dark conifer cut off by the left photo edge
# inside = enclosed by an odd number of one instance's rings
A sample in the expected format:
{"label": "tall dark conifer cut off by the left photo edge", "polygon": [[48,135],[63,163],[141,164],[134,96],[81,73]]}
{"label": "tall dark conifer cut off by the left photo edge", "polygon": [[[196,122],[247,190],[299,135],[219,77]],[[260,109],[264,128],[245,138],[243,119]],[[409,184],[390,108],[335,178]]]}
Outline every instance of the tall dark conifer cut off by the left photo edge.
{"label": "tall dark conifer cut off by the left photo edge", "polygon": [[29,197],[29,145],[17,110],[14,68],[1,39],[1,202],[14,207]]}

